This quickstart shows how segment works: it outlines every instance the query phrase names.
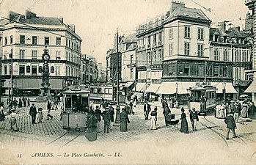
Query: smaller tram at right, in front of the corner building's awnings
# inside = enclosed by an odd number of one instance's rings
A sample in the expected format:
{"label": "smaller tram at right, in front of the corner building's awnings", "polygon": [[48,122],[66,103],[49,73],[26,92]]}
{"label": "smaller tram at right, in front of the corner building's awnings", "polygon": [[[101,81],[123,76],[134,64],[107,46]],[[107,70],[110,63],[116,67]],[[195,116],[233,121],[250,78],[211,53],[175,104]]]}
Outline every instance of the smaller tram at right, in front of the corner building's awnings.
{"label": "smaller tram at right, in front of the corner building's awnings", "polygon": [[216,106],[216,87],[201,84],[189,88],[189,109],[195,108],[198,114],[205,115]]}

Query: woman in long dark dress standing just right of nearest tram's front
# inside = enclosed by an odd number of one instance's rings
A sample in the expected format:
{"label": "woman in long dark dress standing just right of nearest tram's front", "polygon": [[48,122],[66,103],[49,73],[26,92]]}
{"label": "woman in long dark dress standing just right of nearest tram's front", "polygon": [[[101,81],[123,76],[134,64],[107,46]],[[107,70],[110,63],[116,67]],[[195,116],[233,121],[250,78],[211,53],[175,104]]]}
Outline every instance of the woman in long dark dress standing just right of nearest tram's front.
{"label": "woman in long dark dress standing just right of nearest tram's front", "polygon": [[89,120],[88,120],[88,128],[87,132],[85,134],[85,137],[90,141],[97,140],[98,136],[98,119],[95,116],[95,111],[92,111],[92,113],[89,114]]}

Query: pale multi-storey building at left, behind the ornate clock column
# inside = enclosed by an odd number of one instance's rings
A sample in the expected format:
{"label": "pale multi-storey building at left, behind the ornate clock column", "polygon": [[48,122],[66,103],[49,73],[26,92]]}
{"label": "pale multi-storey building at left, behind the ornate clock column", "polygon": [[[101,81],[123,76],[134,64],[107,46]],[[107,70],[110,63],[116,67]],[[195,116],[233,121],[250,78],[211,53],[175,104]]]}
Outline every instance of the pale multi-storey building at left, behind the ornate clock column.
{"label": "pale multi-storey building at left, behind the ornate clock column", "polygon": [[12,74],[14,93],[40,93],[42,54],[47,46],[51,56],[51,91],[62,90],[80,78],[81,41],[75,26],[65,24],[63,18],[40,17],[30,11],[26,11],[25,15],[10,12],[1,40],[3,89],[10,87]]}

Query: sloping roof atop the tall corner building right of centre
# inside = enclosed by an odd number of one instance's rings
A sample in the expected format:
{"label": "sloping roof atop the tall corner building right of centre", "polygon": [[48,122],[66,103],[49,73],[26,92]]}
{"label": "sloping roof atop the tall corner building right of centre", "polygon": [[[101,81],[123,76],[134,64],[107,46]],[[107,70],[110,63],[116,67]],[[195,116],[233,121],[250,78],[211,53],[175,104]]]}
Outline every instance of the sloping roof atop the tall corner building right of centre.
{"label": "sloping roof atop the tall corner building right of centre", "polygon": [[167,18],[167,21],[172,20],[173,18],[182,17],[182,18],[192,18],[194,20],[205,20],[211,21],[203,12],[199,9],[192,9],[189,7],[177,7]]}

